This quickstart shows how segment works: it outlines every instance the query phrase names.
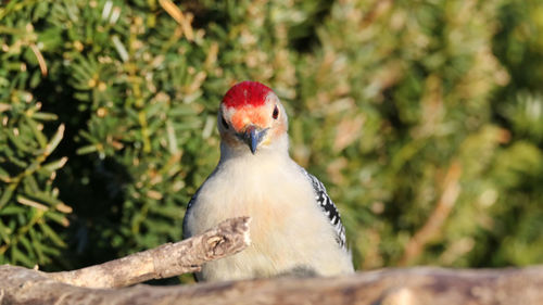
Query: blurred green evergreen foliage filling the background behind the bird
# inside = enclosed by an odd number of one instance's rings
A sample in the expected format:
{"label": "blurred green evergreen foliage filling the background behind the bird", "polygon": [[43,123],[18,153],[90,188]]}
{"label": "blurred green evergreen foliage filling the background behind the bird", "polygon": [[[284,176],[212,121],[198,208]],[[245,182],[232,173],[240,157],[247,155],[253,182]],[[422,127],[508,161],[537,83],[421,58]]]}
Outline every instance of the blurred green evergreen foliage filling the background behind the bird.
{"label": "blurred green evergreen foliage filling the background behind the bird", "polygon": [[543,263],[540,0],[0,1],[0,263],[181,237],[252,79],[358,269]]}

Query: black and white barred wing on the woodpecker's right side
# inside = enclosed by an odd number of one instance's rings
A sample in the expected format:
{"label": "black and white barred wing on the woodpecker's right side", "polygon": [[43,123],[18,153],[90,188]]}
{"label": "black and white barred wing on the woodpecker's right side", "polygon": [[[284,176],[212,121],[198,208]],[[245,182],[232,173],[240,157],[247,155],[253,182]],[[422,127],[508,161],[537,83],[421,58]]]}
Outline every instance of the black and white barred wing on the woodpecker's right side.
{"label": "black and white barred wing on the woodpecker's right side", "polygon": [[330,224],[333,226],[336,229],[336,240],[338,241],[338,244],[346,249],[345,245],[345,228],[343,227],[343,224],[341,223],[341,217],[338,211],[338,207],[336,207],[336,204],[333,204],[332,200],[326,192],[326,188],[320,182],[317,177],[311,175],[305,170],[303,167],[300,167],[304,175],[310,179],[310,181],[313,185],[313,190],[315,191],[315,200],[317,201],[318,205],[323,209],[323,212],[328,216],[328,219],[330,220]]}

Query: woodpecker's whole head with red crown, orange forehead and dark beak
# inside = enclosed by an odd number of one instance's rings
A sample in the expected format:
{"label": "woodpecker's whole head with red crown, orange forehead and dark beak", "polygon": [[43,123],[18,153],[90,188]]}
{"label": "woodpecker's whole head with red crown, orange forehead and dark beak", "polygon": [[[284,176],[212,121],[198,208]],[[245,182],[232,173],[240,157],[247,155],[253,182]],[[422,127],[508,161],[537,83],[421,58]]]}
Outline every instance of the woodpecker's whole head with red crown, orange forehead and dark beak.
{"label": "woodpecker's whole head with red crown, orange forehead and dark beak", "polygon": [[285,139],[288,120],[279,98],[256,81],[230,88],[218,111],[218,131],[225,145],[253,154]]}

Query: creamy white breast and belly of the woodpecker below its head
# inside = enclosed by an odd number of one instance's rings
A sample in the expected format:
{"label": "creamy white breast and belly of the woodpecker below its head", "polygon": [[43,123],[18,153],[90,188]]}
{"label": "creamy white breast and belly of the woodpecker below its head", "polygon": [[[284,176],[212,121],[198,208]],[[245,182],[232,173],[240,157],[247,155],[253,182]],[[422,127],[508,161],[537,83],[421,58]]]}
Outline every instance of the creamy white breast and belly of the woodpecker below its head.
{"label": "creamy white breast and belly of the woodpecker below its head", "polygon": [[288,156],[247,155],[218,165],[187,216],[194,236],[237,216],[251,216],[252,244],[203,266],[204,280],[269,277],[303,267],[319,275],[353,270],[350,255],[315,202],[311,182]]}

